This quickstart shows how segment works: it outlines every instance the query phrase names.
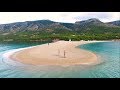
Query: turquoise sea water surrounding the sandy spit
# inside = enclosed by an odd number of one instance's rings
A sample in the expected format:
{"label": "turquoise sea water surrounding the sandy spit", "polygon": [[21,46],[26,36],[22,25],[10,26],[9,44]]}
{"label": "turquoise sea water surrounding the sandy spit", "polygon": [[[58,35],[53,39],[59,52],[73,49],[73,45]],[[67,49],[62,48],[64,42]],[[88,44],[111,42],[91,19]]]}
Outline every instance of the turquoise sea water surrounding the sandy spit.
{"label": "turquoise sea water surrounding the sandy spit", "polygon": [[120,78],[120,42],[100,42],[79,46],[92,51],[102,61],[94,66],[34,66],[3,57],[14,49],[42,43],[0,43],[0,78]]}

